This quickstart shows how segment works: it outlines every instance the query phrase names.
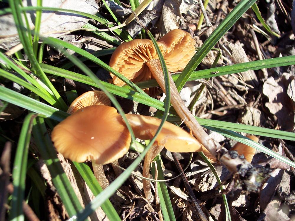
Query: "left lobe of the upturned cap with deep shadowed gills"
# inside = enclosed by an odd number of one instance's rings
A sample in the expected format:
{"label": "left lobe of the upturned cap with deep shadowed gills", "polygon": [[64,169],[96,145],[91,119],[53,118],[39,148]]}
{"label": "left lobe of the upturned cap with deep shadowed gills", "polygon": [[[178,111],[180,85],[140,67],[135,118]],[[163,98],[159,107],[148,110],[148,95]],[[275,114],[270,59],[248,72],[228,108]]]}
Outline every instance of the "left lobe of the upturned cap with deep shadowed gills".
{"label": "left lobe of the upturned cap with deep shadowed gills", "polygon": [[[158,58],[158,55],[151,40],[134,39],[130,42],[124,42],[117,47],[111,57],[109,66],[132,82],[138,82],[151,78],[151,72],[145,66],[145,62],[156,58]],[[110,73],[110,75],[115,85],[125,85],[114,74]]]}

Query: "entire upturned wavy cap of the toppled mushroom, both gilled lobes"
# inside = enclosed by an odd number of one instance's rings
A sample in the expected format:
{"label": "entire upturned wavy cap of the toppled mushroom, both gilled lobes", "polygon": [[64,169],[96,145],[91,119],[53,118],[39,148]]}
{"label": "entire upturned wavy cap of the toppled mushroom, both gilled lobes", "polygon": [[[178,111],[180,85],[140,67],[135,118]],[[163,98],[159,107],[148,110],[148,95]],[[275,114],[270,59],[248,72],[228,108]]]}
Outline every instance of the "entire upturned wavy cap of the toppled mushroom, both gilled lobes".
{"label": "entire upturned wavy cap of the toppled mushroom, both gilled lobes", "polygon": [[[174,29],[158,41],[170,72],[182,71],[195,54],[195,40],[181,29]],[[133,82],[155,78],[154,72],[158,65],[158,55],[153,42],[148,39],[134,39],[120,44],[114,51],[109,66]],[[125,83],[110,73],[113,83],[123,86]],[[157,79],[156,79],[157,80]],[[157,80],[158,81],[158,80]]]}

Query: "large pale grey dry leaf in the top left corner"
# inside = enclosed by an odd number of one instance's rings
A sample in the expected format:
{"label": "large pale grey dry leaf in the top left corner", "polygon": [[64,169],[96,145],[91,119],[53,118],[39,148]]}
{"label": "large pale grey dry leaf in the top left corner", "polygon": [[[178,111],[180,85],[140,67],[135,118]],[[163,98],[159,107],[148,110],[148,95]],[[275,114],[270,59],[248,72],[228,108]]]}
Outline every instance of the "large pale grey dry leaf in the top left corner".
{"label": "large pale grey dry leaf in the top left corner", "polygon": [[[23,1],[23,6],[37,6],[37,1]],[[52,0],[52,1],[43,1],[42,6],[44,7],[54,7],[54,8],[63,8],[78,10],[81,12],[86,12],[89,14],[95,14],[99,6],[95,0]],[[31,29],[34,29],[35,26],[35,11],[27,12],[27,18]],[[42,19],[40,26],[40,35],[44,37],[59,37],[63,35],[64,31],[73,30],[81,28],[84,24],[88,22],[89,18],[78,15],[71,14],[69,12],[52,12],[52,11],[42,11]],[[24,22],[25,23],[25,22]],[[7,49],[16,44],[18,41],[15,41],[13,44],[7,45],[6,42],[9,42],[11,38],[17,36],[17,29],[14,24],[14,19],[12,14],[4,15],[0,17],[0,47]],[[59,32],[59,33],[53,33]]]}

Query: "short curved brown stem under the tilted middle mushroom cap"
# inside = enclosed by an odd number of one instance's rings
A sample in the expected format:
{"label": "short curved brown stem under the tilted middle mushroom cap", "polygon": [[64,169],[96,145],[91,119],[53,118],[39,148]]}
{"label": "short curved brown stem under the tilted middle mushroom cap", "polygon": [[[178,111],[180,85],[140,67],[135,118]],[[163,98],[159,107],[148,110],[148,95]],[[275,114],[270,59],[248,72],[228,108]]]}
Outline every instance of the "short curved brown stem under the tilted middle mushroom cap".
{"label": "short curved brown stem under the tilted middle mushroom cap", "polygon": [[[145,155],[145,161],[143,163],[143,171],[142,171],[143,177],[150,178],[150,163],[161,152],[163,148],[164,148],[163,142],[159,144],[157,141],[155,141],[153,146],[151,146],[150,150]],[[142,184],[143,184],[143,192],[145,193],[145,198],[149,202],[153,202],[154,196],[152,194],[152,191],[150,190],[150,181],[143,179]]]}

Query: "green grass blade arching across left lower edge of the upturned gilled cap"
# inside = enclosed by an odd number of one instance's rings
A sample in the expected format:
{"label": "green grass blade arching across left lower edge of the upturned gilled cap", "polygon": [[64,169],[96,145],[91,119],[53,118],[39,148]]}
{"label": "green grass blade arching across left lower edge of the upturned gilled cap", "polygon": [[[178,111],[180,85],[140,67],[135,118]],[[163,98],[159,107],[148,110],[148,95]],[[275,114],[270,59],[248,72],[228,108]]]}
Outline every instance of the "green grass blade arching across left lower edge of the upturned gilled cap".
{"label": "green grass blade arching across left lower edge of the upturned gilled cap", "polygon": [[52,38],[52,37],[44,39],[44,42],[65,47],[67,49],[73,50],[74,52],[78,53],[79,55],[82,55],[83,57],[87,57],[89,60],[91,60],[92,62],[96,63],[97,65],[103,67],[105,70],[107,70],[109,72],[112,72],[114,75],[119,77],[119,79],[124,81],[130,87],[132,87],[135,91],[137,91],[139,93],[142,93],[142,94],[146,94],[135,83],[130,81],[127,77],[121,75],[119,72],[117,72],[112,67],[110,67],[109,65],[107,65],[106,63],[104,63],[102,60],[95,57],[94,55],[90,54],[89,52],[86,52],[85,50],[83,50],[81,48],[78,48],[78,47],[76,47],[76,46],[74,46],[74,45],[72,45],[70,43],[67,43],[67,42],[64,42],[64,41],[62,41],[60,39],[55,39],[55,38]]}

